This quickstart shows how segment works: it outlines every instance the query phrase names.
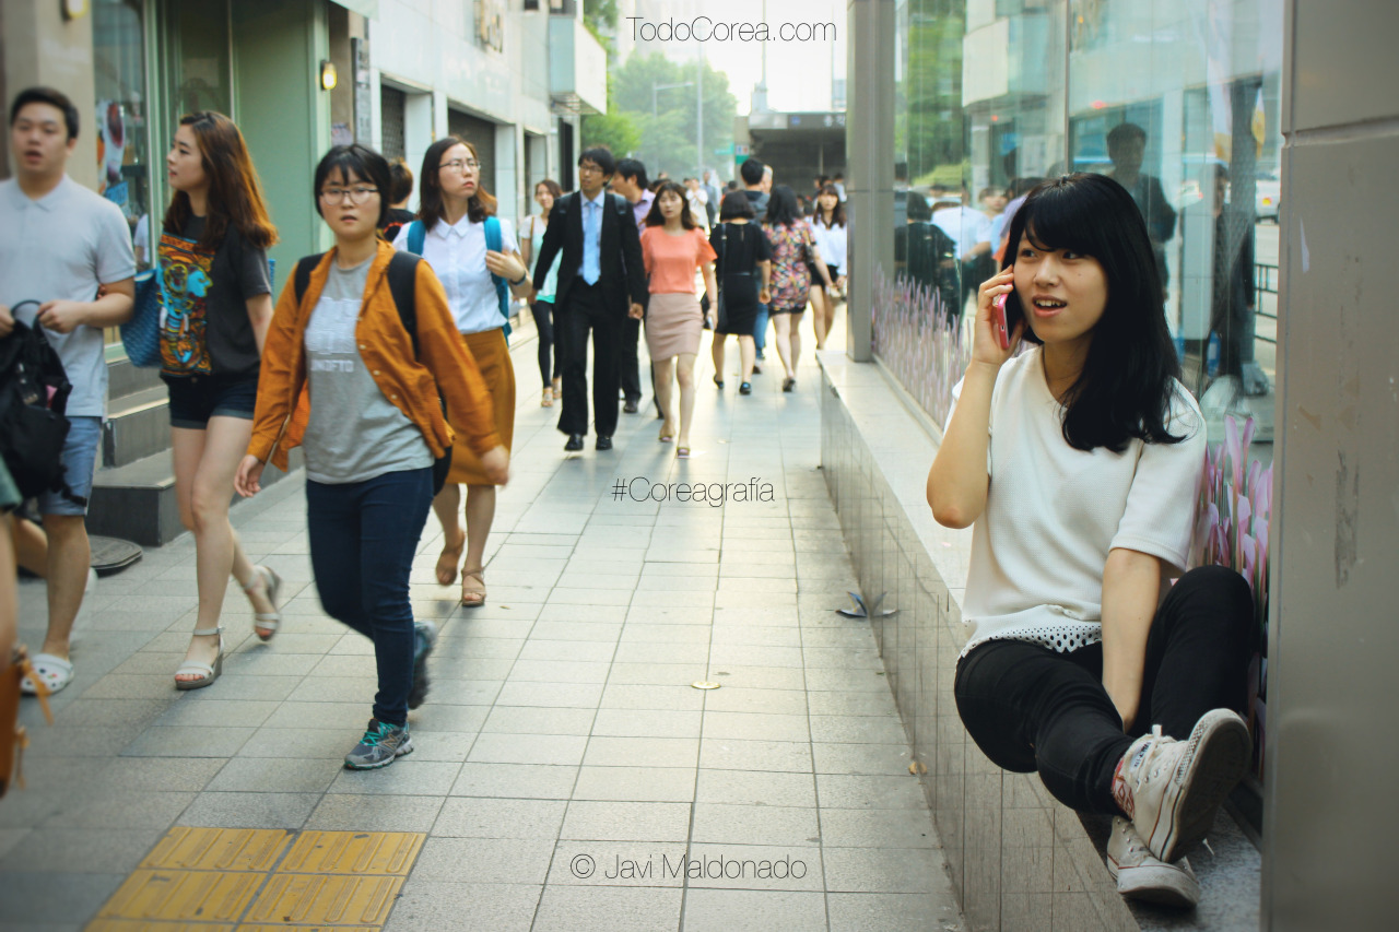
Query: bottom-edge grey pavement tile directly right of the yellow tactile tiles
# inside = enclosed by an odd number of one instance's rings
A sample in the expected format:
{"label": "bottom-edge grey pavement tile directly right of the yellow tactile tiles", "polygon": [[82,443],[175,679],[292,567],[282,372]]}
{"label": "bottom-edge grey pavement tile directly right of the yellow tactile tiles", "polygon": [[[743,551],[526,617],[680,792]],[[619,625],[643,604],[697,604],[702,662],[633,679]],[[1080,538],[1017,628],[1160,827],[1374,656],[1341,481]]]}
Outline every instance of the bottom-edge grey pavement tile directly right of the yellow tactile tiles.
{"label": "bottom-edge grey pavement tile directly right of the yellow tactile tiles", "polygon": [[529,932],[541,884],[450,883],[410,876],[385,932],[491,929]]}

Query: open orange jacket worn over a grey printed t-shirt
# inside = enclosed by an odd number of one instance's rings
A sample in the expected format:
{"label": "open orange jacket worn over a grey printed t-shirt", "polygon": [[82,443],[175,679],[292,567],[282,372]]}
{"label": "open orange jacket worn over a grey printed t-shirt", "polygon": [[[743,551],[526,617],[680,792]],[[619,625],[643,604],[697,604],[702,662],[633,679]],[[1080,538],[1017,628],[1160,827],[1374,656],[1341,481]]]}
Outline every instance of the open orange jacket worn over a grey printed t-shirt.
{"label": "open orange jacket worn over a grey printed t-shirt", "polygon": [[[311,311],[320,301],[320,292],[330,276],[332,249],[311,273],[306,292],[297,304],[292,280],[281,290],[267,341],[263,347],[262,374],[257,382],[257,410],[253,416],[253,438],[248,452],[277,469],[287,469],[287,452],[301,445],[311,420],[311,392],[306,382],[305,336]],[[421,361],[413,358],[413,340],[403,329],[399,309],[389,292],[388,269],[393,246],[379,242],[364,285],[364,304],[355,325],[360,358],[374,376],[375,385],[403,414],[413,421],[434,456],[442,456],[455,434],[442,417],[441,397],[452,423],[466,432],[467,445],[485,453],[501,445],[495,432],[491,399],[467,353],[456,320],[446,304],[446,292],[427,262],[418,263],[413,290],[417,313]]]}

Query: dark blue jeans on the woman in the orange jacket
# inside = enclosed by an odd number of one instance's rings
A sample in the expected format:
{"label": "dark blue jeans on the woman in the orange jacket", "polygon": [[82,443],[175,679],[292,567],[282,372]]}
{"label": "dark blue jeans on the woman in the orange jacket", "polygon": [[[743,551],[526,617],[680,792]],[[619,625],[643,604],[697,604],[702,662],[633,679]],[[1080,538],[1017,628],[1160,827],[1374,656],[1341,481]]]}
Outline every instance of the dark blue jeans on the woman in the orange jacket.
{"label": "dark blue jeans on the woman in the orange jacket", "polygon": [[311,568],[320,605],[374,641],[379,668],[374,716],[390,725],[409,721],[414,648],[409,571],[431,505],[431,467],[343,486],[306,480]]}

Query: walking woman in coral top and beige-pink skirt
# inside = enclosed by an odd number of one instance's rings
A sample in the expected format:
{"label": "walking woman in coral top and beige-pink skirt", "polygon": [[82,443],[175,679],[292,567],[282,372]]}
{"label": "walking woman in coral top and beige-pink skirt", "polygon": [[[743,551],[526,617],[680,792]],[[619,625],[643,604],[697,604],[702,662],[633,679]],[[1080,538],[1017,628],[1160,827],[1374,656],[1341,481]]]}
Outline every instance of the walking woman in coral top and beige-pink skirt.
{"label": "walking woman in coral top and beige-pink skirt", "polygon": [[[695,270],[704,276],[711,305],[718,302],[713,248],[695,225],[686,189],[662,182],[641,234],[641,255],[651,280],[646,308],[646,350],[656,368],[656,400],[665,416],[660,441],[676,442],[676,456],[690,456],[690,427],[695,410],[695,357],[704,312],[695,299]],[[680,385],[680,423],[670,403],[672,379]]]}

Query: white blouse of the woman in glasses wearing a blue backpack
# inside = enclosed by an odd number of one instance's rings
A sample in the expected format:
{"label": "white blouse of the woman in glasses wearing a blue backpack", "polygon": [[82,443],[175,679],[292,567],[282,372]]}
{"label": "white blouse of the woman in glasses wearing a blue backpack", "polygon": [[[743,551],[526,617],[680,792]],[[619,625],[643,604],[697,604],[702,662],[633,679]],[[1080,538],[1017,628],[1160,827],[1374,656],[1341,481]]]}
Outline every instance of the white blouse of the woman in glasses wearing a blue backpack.
{"label": "white blouse of the woman in glasses wearing a blue backpack", "polygon": [[[501,217],[501,249],[519,252],[515,241],[515,225]],[[393,248],[407,252],[409,227],[393,239]],[[483,333],[505,326],[501,316],[501,301],[491,281],[491,270],[485,267],[485,224],[473,223],[466,217],[448,225],[445,220],[434,224],[422,236],[422,257],[432,266],[446,291],[446,302],[456,318],[460,333]]]}

